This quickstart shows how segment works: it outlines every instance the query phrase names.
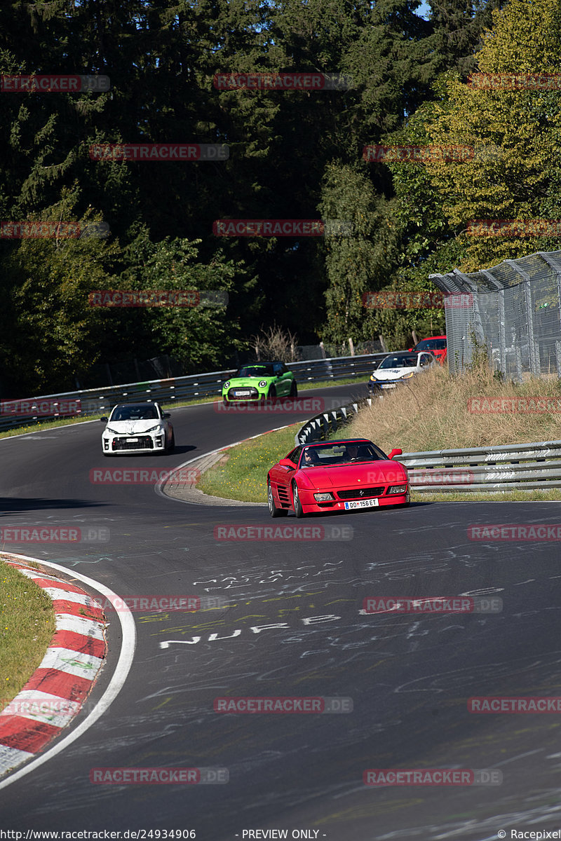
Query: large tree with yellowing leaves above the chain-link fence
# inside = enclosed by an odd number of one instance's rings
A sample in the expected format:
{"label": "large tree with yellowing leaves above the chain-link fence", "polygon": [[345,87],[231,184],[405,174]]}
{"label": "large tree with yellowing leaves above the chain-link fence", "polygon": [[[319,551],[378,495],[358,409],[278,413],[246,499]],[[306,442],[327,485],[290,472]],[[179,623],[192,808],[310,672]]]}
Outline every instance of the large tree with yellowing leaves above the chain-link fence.
{"label": "large tree with yellowing leaves above the chain-link fence", "polygon": [[468,233],[472,220],[561,220],[560,54],[560,0],[510,0],[484,34],[479,75],[448,78],[426,111],[426,143],[474,148],[463,163],[424,164],[463,246],[463,271],[561,246],[561,235]]}

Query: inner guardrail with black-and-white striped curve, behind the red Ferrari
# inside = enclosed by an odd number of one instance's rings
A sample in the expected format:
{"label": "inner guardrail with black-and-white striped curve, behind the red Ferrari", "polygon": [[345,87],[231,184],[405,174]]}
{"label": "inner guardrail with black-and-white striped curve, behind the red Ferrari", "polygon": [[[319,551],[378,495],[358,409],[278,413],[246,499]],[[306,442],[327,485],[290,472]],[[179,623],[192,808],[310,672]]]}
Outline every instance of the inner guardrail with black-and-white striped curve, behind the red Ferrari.
{"label": "inner guardrail with black-and-white striped curve, behind the red Ferrari", "polygon": [[[325,441],[365,405],[372,405],[372,399],[320,412],[294,436],[296,446]],[[404,452],[395,461],[407,468],[411,487],[421,492],[561,488],[561,441]]]}

